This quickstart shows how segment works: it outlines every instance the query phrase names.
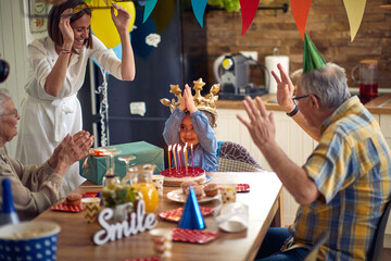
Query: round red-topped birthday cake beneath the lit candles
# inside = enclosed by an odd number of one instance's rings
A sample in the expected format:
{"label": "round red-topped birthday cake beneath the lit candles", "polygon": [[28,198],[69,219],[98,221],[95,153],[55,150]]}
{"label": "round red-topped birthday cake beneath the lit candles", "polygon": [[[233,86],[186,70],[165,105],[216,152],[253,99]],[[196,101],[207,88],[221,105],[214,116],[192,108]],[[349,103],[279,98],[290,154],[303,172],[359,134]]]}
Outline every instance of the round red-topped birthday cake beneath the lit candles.
{"label": "round red-topped birthday cake beneath the lit candles", "polygon": [[189,166],[186,167],[172,167],[161,172],[164,176],[165,186],[180,186],[184,182],[197,182],[202,183],[206,178],[205,170],[201,167]]}

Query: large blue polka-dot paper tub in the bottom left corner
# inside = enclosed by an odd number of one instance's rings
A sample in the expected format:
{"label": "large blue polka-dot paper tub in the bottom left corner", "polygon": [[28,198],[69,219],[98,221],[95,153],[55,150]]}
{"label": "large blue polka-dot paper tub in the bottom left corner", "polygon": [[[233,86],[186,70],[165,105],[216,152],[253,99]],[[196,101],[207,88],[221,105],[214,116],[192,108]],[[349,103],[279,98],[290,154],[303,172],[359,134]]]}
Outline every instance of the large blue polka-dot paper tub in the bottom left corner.
{"label": "large blue polka-dot paper tub in the bottom left corner", "polygon": [[1,260],[55,260],[60,225],[21,222],[0,227]]}

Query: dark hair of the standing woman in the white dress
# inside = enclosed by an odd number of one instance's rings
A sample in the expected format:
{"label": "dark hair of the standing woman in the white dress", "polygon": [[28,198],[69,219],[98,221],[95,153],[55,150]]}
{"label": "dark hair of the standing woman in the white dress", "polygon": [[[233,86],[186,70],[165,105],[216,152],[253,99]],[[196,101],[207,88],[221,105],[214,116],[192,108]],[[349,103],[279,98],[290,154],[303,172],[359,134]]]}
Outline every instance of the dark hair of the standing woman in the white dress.
{"label": "dark hair of the standing woman in the white dress", "polygon": [[[49,34],[49,37],[54,41],[55,45],[61,47],[64,44],[64,39],[62,37],[62,34],[61,34],[61,30],[59,27],[61,14],[66,9],[74,9],[79,4],[85,4],[85,2],[83,0],[67,0],[62,4],[53,4],[53,7],[51,8],[51,10],[49,12],[49,16],[48,16],[48,34]],[[71,24],[73,22],[75,22],[76,20],[80,18],[84,14],[87,14],[91,17],[91,9],[87,5],[85,5],[85,8],[83,10],[73,14],[71,16]],[[85,40],[85,46],[87,48],[93,48],[91,25],[89,26],[88,39]],[[72,48],[72,51],[76,53],[74,48]]]}

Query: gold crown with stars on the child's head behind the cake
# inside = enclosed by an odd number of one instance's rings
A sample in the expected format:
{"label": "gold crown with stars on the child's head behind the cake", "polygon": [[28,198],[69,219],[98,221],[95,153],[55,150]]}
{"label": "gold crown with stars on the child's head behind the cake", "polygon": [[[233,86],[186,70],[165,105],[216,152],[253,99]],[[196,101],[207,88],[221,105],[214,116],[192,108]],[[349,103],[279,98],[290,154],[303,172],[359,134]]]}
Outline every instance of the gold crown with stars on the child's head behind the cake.
{"label": "gold crown with stars on the child's head behind the cake", "polygon": [[[205,83],[202,82],[202,78],[199,78],[198,80],[193,80],[193,90],[195,90],[195,95],[193,96],[194,104],[197,109],[201,111],[209,111],[213,115],[217,115],[216,111],[216,100],[218,100],[217,92],[219,90],[219,84],[215,84],[211,87],[210,94],[205,95],[205,97],[201,96],[201,90],[203,89],[203,86]],[[177,101],[173,99],[169,101],[167,98],[163,98],[160,101],[163,105],[169,107],[171,112],[177,108],[181,100],[182,100],[182,90],[179,88],[179,85],[169,85],[171,90],[169,92],[174,94],[177,97]]]}

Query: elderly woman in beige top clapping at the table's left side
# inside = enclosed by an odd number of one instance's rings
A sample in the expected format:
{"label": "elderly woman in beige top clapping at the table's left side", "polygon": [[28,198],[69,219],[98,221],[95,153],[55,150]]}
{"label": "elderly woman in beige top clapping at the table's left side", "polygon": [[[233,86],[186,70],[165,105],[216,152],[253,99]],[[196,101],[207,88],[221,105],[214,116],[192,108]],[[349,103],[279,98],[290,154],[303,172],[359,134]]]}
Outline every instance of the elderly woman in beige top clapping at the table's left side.
{"label": "elderly woman in beige top clapping at the table's left side", "polygon": [[61,185],[68,167],[88,154],[93,137],[84,130],[67,135],[41,166],[24,166],[10,158],[5,149],[5,142],[17,134],[18,120],[9,91],[0,88],[0,182],[5,177],[11,179],[18,216],[21,220],[29,220],[60,199]]}

